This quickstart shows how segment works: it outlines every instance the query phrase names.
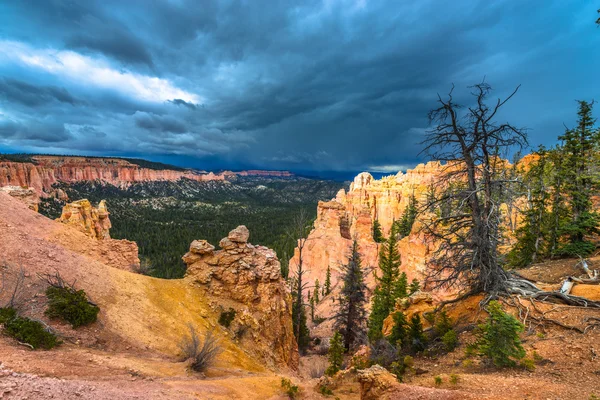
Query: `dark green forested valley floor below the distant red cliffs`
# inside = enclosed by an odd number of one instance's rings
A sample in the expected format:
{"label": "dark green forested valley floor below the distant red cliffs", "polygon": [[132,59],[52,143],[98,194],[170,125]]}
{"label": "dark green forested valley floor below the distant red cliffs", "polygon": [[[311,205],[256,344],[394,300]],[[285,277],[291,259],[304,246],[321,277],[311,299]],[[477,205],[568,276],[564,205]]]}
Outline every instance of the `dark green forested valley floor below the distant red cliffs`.
{"label": "dark green forested valley floor below the distant red cliffs", "polygon": [[[347,186],[343,182],[302,177],[236,177],[231,181],[135,183],[119,188],[102,182],[61,183],[71,201],[87,198],[93,204],[107,201],[114,239],[139,246],[142,272],[160,278],[180,278],[181,260],[195,239],[218,246],[238,225],[250,230],[250,241],[273,248],[287,275],[287,261],[295,243],[286,231],[293,217],[304,210],[316,216],[318,200],[328,200]],[[58,218],[65,203],[43,199],[40,212]]]}

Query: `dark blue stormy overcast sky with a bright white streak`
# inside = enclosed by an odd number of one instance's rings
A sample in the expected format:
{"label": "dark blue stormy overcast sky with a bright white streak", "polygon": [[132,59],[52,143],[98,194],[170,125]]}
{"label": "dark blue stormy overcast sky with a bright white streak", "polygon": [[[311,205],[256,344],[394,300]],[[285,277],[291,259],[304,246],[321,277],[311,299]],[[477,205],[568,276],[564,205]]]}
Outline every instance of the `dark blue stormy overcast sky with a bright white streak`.
{"label": "dark blue stormy overcast sky with a bright white streak", "polygon": [[552,144],[600,100],[599,7],[0,0],[0,151],[396,172],[421,161],[436,94],[484,76],[521,84],[499,118]]}

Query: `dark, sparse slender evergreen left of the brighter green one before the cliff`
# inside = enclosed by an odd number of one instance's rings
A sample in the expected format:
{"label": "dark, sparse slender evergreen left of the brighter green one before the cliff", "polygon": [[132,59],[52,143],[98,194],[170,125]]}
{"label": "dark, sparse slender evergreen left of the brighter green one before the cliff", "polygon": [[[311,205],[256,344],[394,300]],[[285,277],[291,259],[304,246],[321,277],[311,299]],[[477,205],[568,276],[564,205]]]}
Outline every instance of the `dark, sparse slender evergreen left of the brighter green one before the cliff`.
{"label": "dark, sparse slender evergreen left of the brighter green one before the cliff", "polygon": [[334,315],[334,328],[342,334],[346,350],[350,350],[364,333],[366,323],[365,291],[367,287],[363,278],[356,240],[352,244],[352,254],[348,264],[343,266],[342,280],[344,286],[338,301],[338,310]]}

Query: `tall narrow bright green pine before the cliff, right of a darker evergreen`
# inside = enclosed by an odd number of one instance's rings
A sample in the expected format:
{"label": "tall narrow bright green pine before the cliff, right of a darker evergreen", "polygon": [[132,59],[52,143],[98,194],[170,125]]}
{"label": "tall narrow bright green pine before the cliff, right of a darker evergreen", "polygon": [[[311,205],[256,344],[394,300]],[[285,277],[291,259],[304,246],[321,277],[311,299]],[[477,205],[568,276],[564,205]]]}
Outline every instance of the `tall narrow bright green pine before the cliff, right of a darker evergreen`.
{"label": "tall narrow bright green pine before the cliff, right of a darker evergreen", "polygon": [[398,268],[400,267],[400,253],[398,253],[396,244],[396,233],[392,226],[392,232],[379,251],[381,276],[375,276],[377,286],[373,294],[373,306],[369,315],[368,337],[371,342],[381,338],[383,320],[394,309],[396,303],[394,289],[398,280]]}

